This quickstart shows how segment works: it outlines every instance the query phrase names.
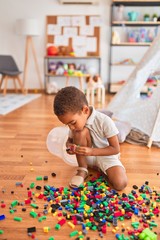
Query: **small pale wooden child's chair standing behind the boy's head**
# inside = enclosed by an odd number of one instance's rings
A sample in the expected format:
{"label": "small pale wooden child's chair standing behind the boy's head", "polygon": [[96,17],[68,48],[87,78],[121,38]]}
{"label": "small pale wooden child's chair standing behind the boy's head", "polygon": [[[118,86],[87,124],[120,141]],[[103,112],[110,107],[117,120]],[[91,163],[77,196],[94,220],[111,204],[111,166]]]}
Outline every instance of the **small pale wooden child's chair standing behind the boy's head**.
{"label": "small pale wooden child's chair standing behind the boy's head", "polygon": [[89,104],[94,105],[95,93],[99,103],[105,104],[105,87],[99,75],[88,76],[86,78],[86,97]]}

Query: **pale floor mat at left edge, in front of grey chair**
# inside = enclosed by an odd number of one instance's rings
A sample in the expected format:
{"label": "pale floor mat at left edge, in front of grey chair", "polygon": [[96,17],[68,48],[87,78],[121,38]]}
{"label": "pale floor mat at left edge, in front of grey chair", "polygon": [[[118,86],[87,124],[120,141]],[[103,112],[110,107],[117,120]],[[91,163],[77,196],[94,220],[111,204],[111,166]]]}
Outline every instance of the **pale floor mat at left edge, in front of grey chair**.
{"label": "pale floor mat at left edge, in front of grey chair", "polygon": [[6,115],[40,96],[41,94],[0,94],[0,115]]}

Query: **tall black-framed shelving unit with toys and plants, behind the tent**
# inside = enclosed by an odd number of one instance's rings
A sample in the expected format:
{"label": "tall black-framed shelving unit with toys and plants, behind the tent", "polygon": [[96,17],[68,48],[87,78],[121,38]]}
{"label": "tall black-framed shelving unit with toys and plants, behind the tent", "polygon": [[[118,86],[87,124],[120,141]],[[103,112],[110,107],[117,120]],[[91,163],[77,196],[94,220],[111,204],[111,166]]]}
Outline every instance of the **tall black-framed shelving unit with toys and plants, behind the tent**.
{"label": "tall black-framed shelving unit with toys and plants, behind the tent", "polygon": [[[160,26],[160,0],[112,0],[108,92],[116,93],[140,62]],[[148,15],[148,16],[147,16]],[[155,17],[154,17],[155,16]],[[148,19],[147,19],[148,17]]]}

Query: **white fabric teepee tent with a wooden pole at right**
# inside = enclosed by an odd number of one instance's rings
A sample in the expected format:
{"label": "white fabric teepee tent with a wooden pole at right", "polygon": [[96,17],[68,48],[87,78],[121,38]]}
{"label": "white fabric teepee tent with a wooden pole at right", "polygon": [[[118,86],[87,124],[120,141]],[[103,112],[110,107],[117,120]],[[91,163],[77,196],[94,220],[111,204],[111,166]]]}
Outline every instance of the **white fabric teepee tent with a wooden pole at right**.
{"label": "white fabric teepee tent with a wooden pole at right", "polygon": [[140,92],[151,73],[160,68],[160,34],[145,53],[125,85],[107,107],[118,120],[128,121],[133,128],[147,134],[152,141],[160,141],[160,84],[152,96],[142,99]]}

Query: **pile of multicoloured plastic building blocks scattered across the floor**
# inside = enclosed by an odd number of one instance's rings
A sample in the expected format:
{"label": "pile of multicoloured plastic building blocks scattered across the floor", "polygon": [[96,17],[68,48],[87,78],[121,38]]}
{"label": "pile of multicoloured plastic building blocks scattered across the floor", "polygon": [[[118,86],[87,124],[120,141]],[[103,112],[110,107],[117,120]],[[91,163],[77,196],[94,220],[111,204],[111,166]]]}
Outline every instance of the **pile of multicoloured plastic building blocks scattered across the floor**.
{"label": "pile of multicoloured plastic building blocks scattered across the floor", "polygon": [[[47,181],[48,178],[36,178],[36,181],[41,180]],[[156,223],[160,213],[160,193],[152,190],[148,182],[140,188],[134,185],[129,194],[119,194],[111,189],[100,175],[91,177],[83,186],[72,190],[44,185],[42,191],[42,186],[32,182],[26,195],[23,203],[18,200],[11,202],[10,213],[16,212],[18,215],[19,207],[26,211],[26,206],[30,206],[32,222],[33,219],[43,222],[48,215],[52,215],[55,226],[52,222],[52,226],[43,227],[44,233],[53,235],[54,231],[60,231],[67,224],[71,228],[68,237],[76,240],[89,240],[91,231],[96,231],[100,238],[105,238],[107,231],[111,231],[118,240],[157,240],[160,234]],[[38,203],[41,201],[44,201],[44,209],[40,212]],[[1,201],[1,208],[4,205]],[[19,216],[13,217],[13,221],[22,220]],[[6,221],[7,224],[5,214],[0,215],[0,221]],[[81,231],[78,230],[79,226]],[[0,229],[0,234],[5,234],[3,229]],[[35,226],[28,228],[27,234],[38,239]],[[54,240],[54,236],[48,237],[48,240]]]}

